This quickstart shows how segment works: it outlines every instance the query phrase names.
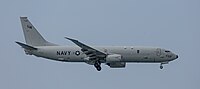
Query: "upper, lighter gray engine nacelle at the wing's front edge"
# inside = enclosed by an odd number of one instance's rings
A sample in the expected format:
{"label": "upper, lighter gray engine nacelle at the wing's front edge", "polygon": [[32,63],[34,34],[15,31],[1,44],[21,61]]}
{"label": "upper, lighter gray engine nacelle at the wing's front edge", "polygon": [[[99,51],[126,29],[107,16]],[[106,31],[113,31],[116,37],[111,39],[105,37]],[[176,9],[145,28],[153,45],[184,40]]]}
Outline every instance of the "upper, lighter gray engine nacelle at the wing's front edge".
{"label": "upper, lighter gray engine nacelle at the wing's front edge", "polygon": [[119,54],[111,54],[106,57],[106,63],[120,62],[122,56]]}

